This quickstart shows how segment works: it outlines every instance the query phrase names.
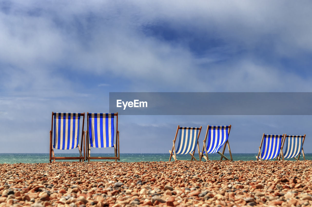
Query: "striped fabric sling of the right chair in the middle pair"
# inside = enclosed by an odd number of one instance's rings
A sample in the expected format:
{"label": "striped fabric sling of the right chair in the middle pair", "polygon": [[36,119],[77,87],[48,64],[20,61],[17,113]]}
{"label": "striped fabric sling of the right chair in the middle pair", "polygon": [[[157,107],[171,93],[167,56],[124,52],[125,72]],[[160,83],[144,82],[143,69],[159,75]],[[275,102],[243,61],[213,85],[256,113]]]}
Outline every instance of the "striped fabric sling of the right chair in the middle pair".
{"label": "striped fabric sling of the right chair in the middle pair", "polygon": [[207,153],[216,153],[229,138],[229,126],[209,126],[207,142]]}

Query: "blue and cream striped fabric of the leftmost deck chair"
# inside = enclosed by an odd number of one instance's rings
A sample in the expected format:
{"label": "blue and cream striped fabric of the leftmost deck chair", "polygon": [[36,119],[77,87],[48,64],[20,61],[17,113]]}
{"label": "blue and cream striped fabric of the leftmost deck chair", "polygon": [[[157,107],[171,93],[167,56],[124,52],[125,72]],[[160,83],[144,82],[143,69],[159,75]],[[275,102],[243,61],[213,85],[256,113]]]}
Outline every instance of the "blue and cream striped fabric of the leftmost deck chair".
{"label": "blue and cream striped fabric of the leftmost deck chair", "polygon": [[54,113],[54,144],[58,150],[69,150],[79,144],[80,113]]}

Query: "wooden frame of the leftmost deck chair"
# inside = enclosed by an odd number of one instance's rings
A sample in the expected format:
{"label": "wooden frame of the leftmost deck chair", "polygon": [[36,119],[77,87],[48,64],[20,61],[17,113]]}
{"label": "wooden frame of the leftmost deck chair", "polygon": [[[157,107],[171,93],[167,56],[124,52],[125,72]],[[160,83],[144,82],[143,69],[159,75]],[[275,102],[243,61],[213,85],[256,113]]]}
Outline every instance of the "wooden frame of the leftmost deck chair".
{"label": "wooden frame of the leftmost deck chair", "polygon": [[[85,160],[85,131],[83,130],[84,128],[84,123],[85,123],[85,113],[80,113],[80,117],[82,116],[82,133],[81,133],[81,145],[78,144],[78,150],[79,150],[79,157],[55,157],[54,155],[54,149],[53,149],[53,145],[52,145],[52,135],[53,135],[53,116],[55,115],[54,112],[52,112],[52,119],[51,119],[51,131],[50,131],[50,153],[49,153],[49,159],[50,159],[50,163],[52,162],[56,162],[56,159],[79,159],[79,162],[83,162]],[[54,126],[55,127],[55,126]],[[79,133],[79,131],[78,131]],[[83,145],[82,145],[83,143]],[[82,156],[82,150],[83,150],[83,156]]]}

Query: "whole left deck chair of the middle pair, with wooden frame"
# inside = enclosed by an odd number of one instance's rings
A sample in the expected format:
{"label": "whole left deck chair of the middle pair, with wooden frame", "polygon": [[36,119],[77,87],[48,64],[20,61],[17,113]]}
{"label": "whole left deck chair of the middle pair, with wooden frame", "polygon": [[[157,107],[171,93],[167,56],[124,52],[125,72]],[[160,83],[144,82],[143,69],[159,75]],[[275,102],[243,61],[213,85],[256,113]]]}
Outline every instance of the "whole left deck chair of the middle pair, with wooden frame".
{"label": "whole left deck chair of the middle pair, with wooden frame", "polygon": [[[180,130],[180,136],[179,136],[179,143],[177,150],[175,148],[175,142],[177,140],[178,131]],[[171,157],[174,158],[175,161],[177,161],[176,154],[190,154],[192,159],[196,160],[194,157],[196,145],[198,149],[199,154],[199,144],[198,144],[198,138],[200,135],[200,132],[202,130],[202,126],[200,127],[180,127],[178,125],[176,135],[173,140],[173,146],[172,150],[169,150],[170,158],[169,162],[171,160]],[[174,153],[174,154],[173,154]]]}

